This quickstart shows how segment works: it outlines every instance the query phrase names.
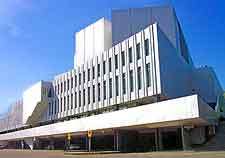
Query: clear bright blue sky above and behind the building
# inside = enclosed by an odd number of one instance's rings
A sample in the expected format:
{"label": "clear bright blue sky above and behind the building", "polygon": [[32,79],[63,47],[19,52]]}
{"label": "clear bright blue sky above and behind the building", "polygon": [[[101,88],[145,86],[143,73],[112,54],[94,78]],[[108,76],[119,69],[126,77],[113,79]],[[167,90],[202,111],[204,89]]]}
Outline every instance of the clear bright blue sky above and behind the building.
{"label": "clear bright blue sky above and behind the building", "polygon": [[23,91],[73,67],[74,33],[112,9],[172,4],[196,66],[225,87],[223,0],[0,0],[0,113]]}

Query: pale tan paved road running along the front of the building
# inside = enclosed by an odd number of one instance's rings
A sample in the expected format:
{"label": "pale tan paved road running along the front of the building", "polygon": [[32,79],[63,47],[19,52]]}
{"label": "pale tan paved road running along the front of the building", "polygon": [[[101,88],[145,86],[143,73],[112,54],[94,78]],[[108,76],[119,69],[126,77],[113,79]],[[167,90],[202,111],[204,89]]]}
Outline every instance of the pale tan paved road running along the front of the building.
{"label": "pale tan paved road running along the front of the building", "polygon": [[0,158],[225,158],[217,152],[152,152],[128,154],[64,155],[62,151],[0,150]]}

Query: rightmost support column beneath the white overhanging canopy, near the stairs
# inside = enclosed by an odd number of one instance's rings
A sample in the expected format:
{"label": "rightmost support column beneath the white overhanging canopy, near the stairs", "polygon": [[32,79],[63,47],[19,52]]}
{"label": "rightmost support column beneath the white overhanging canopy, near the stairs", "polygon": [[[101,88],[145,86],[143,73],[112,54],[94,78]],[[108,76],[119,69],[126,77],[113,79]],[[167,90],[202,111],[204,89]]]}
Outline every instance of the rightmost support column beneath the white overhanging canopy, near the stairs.
{"label": "rightmost support column beneath the white overhanging canopy, near the stairs", "polygon": [[191,136],[190,131],[181,126],[181,138],[183,150],[191,150]]}

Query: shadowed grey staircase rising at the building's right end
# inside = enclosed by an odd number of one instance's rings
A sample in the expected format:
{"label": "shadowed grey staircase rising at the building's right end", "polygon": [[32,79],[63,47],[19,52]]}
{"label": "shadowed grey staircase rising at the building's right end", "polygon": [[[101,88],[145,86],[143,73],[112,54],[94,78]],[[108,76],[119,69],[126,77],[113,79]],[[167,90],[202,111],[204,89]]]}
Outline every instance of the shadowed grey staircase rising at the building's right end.
{"label": "shadowed grey staircase rising at the building's right end", "polygon": [[201,147],[194,148],[196,151],[225,151],[225,122],[221,122],[218,126],[216,135],[212,137]]}

